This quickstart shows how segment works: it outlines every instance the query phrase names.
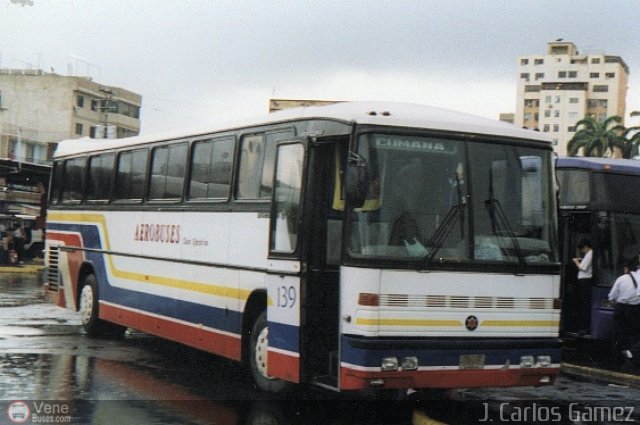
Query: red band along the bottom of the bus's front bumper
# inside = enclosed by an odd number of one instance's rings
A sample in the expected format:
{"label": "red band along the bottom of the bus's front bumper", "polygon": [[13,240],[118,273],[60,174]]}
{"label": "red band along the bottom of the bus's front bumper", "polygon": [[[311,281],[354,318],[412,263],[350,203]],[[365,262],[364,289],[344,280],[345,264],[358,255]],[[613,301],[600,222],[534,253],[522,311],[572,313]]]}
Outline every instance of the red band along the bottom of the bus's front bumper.
{"label": "red band along the bottom of the bus's front bumper", "polygon": [[[340,389],[532,386],[552,384],[559,371],[559,368],[547,368],[367,372],[341,367]],[[544,377],[549,378],[548,382],[541,382]]]}

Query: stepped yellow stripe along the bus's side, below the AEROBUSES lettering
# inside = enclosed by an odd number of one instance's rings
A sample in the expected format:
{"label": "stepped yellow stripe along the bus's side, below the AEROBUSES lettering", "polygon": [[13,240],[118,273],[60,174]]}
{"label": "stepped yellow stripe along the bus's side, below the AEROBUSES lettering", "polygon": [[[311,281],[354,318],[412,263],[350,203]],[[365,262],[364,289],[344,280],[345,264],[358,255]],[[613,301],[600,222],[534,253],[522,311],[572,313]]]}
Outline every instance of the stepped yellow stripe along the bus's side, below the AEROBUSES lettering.
{"label": "stepped yellow stripe along the bus's side, below the AEROBUSES lettering", "polygon": [[[49,221],[51,222],[62,221],[62,222],[70,222],[70,223],[78,223],[78,224],[96,223],[100,225],[100,227],[102,228],[102,234],[104,237],[104,245],[105,245],[104,249],[106,251],[111,250],[111,245],[109,243],[109,235],[107,233],[106,220],[102,215],[82,214],[82,213],[79,213],[79,214],[50,213]],[[143,283],[151,283],[154,285],[161,285],[161,286],[166,286],[166,287],[176,288],[176,289],[184,289],[188,291],[200,292],[204,294],[216,295],[224,298],[234,298],[239,300],[246,300],[250,295],[250,291],[244,290],[244,289],[229,288],[226,286],[219,286],[219,285],[209,285],[205,283],[193,282],[193,281],[182,280],[182,279],[173,279],[173,278],[162,277],[162,276],[146,275],[142,273],[118,270],[118,268],[113,264],[112,256],[107,255],[107,259],[108,259],[109,271],[111,275],[120,279],[132,280],[132,281],[143,282]],[[273,301],[269,299],[268,303],[269,305],[271,305]]]}

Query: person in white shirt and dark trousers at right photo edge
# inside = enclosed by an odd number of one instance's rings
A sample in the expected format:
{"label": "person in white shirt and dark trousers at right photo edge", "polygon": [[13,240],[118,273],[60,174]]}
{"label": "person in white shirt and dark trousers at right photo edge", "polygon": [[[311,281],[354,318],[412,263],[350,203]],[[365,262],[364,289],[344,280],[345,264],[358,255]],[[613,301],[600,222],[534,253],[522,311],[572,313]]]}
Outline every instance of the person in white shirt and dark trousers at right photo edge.
{"label": "person in white shirt and dark trousers at right photo edge", "polygon": [[640,336],[640,274],[637,259],[627,262],[624,274],[618,277],[609,291],[609,301],[615,303],[613,313],[613,360],[616,364],[629,351]]}

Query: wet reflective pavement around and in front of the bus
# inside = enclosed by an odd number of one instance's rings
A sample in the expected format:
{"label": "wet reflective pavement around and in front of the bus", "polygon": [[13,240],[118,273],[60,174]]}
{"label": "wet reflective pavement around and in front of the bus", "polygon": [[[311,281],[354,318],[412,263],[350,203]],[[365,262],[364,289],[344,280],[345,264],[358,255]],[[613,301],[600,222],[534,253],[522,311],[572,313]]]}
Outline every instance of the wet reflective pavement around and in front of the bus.
{"label": "wet reflective pavement around and in front of the bus", "polygon": [[280,399],[257,391],[241,365],[202,351],[131,330],[89,338],[75,313],[45,300],[36,274],[0,271],[0,424],[23,415],[73,424],[629,423],[618,421],[623,413],[639,421],[640,384],[571,372],[553,386],[437,398],[355,400],[302,388]]}

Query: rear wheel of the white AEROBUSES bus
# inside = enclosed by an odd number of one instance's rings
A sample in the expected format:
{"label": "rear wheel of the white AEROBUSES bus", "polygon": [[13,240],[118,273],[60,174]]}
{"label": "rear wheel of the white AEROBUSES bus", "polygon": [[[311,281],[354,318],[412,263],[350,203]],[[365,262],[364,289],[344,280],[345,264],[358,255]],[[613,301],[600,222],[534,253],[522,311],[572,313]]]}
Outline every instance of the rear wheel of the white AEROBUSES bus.
{"label": "rear wheel of the white AEROBUSES bus", "polygon": [[80,290],[79,312],[82,328],[89,336],[124,335],[126,328],[100,319],[99,309],[98,281],[94,274],[89,274]]}

